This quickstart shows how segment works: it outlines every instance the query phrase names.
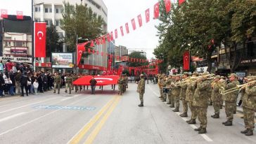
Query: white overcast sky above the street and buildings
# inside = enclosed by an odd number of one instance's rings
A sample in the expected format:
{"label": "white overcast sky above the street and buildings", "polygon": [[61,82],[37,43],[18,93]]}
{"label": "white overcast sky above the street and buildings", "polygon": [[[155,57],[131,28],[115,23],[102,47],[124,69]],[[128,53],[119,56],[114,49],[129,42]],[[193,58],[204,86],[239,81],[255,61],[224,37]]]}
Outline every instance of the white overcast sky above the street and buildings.
{"label": "white overcast sky above the street and buildings", "polygon": [[[153,49],[158,45],[157,29],[155,25],[158,20],[153,20],[153,6],[158,0],[103,0],[108,7],[108,31],[118,29],[120,36],[120,26],[124,27],[129,22],[130,33],[124,32],[123,37],[117,38],[117,45],[127,46],[128,49],[143,50],[147,52],[147,57],[153,57]],[[145,10],[151,9],[151,20],[145,22]],[[23,11],[24,15],[31,15],[31,0],[0,0],[0,9],[7,9],[8,14],[15,15],[16,10]],[[143,27],[139,28],[137,15],[141,14]],[[132,30],[131,20],[136,20],[136,30]]]}

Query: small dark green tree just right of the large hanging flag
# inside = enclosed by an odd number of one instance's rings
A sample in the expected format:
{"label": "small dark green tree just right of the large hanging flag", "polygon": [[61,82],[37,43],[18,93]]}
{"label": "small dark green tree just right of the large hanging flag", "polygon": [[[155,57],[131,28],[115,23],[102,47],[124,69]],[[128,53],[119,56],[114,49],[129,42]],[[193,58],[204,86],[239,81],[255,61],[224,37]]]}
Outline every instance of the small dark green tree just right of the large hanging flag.
{"label": "small dark green tree just right of the large hanging flag", "polygon": [[46,57],[51,57],[51,52],[60,52],[62,44],[56,25],[51,24],[46,28]]}

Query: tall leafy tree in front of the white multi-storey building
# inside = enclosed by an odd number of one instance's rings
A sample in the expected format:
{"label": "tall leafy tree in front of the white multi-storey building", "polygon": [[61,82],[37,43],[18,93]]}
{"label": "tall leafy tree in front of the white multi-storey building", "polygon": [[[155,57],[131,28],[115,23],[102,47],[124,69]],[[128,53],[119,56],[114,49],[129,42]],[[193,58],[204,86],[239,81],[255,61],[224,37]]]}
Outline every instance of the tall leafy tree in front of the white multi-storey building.
{"label": "tall leafy tree in front of the white multi-storey building", "polygon": [[93,40],[101,36],[103,31],[103,18],[97,16],[86,4],[71,5],[64,1],[63,20],[61,29],[65,31],[65,43],[68,51],[74,52],[76,48],[77,36]]}

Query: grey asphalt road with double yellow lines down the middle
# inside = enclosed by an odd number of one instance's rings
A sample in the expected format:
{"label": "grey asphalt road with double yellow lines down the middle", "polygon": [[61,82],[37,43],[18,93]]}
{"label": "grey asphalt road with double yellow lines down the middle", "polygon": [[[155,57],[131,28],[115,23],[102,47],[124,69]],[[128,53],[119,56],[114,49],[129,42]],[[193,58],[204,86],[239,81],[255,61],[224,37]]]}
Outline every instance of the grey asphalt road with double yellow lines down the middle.
{"label": "grey asphalt road with double yellow lines down the middle", "polygon": [[[241,114],[232,127],[212,119],[208,108],[207,134],[200,135],[158,98],[157,85],[146,85],[144,107],[139,108],[136,84],[122,96],[110,86],[103,91],[89,90],[72,94],[45,92],[25,97],[0,99],[0,143],[256,143],[256,136],[244,136]],[[182,107],[180,107],[182,111]],[[190,116],[190,113],[189,113]],[[256,135],[256,131],[255,131]]]}

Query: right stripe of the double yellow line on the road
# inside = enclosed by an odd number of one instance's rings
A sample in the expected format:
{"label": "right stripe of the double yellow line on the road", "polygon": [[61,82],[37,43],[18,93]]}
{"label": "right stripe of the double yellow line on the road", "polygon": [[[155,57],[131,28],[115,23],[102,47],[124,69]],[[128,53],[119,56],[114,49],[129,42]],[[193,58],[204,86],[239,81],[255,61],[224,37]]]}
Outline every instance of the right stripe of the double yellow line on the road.
{"label": "right stripe of the double yellow line on the road", "polygon": [[113,103],[113,105],[109,108],[108,112],[103,116],[101,122],[99,122],[97,124],[97,126],[95,127],[94,131],[91,132],[91,134],[88,136],[87,140],[84,142],[85,144],[91,144],[93,143],[94,139],[96,138],[96,136],[98,135],[98,132],[101,130],[101,128],[103,127],[103,125],[105,124],[105,122],[108,120],[108,117],[110,116],[110,114],[113,112],[113,110],[115,109],[115,107],[117,106],[117,103],[120,101],[121,97],[119,96],[118,99],[115,100],[115,102]]}

